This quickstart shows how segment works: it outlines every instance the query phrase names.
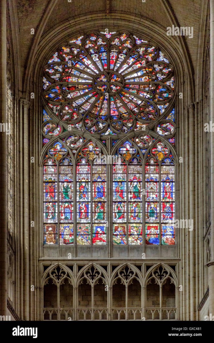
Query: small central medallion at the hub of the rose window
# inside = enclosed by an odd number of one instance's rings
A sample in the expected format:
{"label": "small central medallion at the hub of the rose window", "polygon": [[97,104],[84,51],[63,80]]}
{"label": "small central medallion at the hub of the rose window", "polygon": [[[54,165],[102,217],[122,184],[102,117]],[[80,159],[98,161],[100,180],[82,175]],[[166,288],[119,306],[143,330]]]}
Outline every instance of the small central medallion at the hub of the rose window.
{"label": "small central medallion at the hub of the rose window", "polygon": [[94,87],[102,93],[116,93],[123,87],[123,76],[115,71],[104,71],[94,77]]}

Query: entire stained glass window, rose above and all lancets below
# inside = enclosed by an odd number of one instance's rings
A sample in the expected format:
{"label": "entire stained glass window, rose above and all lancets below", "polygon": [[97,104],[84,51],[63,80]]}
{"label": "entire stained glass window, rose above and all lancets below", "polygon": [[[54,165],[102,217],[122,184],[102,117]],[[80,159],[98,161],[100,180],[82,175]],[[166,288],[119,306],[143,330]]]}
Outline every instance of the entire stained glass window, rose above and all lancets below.
{"label": "entire stained glass window, rose above and all lancets below", "polygon": [[[45,245],[106,245],[109,229],[113,245],[175,244],[174,83],[158,46],[127,32],[53,52],[42,82]],[[111,177],[102,149],[121,156]]]}

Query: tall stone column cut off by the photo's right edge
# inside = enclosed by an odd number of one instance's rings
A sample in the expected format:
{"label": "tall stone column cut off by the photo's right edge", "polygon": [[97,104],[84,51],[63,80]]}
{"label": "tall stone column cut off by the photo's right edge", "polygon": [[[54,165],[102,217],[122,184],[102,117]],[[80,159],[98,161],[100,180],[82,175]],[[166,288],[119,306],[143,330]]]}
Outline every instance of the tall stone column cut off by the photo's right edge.
{"label": "tall stone column cut off by the photo's right edge", "polygon": [[[210,1],[210,120],[214,123],[214,0]],[[209,308],[214,315],[214,132],[210,135],[211,150],[211,261],[209,265]]]}

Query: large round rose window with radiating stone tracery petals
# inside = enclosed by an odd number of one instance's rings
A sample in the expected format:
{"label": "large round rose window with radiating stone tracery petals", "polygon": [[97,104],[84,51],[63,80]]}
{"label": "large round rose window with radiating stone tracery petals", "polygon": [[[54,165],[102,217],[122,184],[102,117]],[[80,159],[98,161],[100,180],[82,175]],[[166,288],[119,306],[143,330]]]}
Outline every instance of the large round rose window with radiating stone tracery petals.
{"label": "large round rose window with radiating stone tracery petals", "polygon": [[48,106],[90,133],[127,133],[157,120],[173,97],[169,60],[124,32],[93,32],[61,46],[44,68]]}

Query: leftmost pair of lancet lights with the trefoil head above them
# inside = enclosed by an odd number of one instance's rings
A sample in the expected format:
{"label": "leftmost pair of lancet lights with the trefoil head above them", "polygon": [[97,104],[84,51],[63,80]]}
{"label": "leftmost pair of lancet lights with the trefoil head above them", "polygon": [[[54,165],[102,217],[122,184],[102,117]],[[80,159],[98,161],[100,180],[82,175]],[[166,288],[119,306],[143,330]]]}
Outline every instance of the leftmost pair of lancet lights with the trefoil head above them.
{"label": "leftmost pair of lancet lights with the trefoil head above them", "polygon": [[73,165],[60,142],[49,154],[54,159],[46,155],[43,164],[44,244],[74,244]]}

